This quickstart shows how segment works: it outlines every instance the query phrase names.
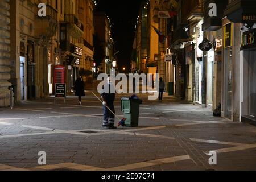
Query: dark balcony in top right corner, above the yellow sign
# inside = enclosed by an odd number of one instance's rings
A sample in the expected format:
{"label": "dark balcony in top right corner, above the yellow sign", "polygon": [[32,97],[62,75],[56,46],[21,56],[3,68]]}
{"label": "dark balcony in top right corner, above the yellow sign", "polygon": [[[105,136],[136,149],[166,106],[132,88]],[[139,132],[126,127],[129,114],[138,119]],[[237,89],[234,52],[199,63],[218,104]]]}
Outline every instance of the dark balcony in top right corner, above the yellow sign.
{"label": "dark balcony in top right corner, above the yellow sign", "polygon": [[[243,23],[242,16],[253,16],[255,13],[255,0],[231,0],[224,10],[224,16],[227,16],[230,22]],[[255,23],[255,22],[252,22]]]}

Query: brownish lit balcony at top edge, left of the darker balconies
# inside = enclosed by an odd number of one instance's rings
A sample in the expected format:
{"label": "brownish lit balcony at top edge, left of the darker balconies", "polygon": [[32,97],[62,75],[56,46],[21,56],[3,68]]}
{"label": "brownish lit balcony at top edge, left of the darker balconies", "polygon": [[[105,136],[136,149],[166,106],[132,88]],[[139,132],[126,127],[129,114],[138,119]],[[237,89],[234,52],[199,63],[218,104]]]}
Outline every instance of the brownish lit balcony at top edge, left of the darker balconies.
{"label": "brownish lit balcony at top edge, left of the darker balconies", "polygon": [[187,2],[187,6],[191,9],[187,16],[188,21],[195,22],[204,17],[203,0],[191,0]]}

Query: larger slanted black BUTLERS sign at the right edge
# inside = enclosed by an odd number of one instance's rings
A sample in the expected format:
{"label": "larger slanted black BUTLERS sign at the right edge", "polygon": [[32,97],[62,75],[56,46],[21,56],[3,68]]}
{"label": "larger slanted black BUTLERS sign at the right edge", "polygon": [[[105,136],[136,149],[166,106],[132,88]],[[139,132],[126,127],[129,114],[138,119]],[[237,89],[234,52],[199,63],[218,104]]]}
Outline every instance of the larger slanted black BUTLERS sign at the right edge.
{"label": "larger slanted black BUTLERS sign at the right edge", "polygon": [[240,50],[256,47],[256,28],[243,32]]}

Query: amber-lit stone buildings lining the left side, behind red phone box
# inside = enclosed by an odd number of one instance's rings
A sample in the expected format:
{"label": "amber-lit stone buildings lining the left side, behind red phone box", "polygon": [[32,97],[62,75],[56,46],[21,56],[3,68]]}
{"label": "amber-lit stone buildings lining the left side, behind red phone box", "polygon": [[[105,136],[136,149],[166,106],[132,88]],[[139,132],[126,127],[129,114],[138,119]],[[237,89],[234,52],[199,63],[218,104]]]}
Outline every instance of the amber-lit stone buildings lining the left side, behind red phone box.
{"label": "amber-lit stone buildings lining the left side, behind red phone box", "polygon": [[[90,0],[8,3],[11,46],[8,80],[14,88],[15,102],[54,94],[58,82],[67,84],[70,92],[80,69],[93,68],[94,3]],[[44,7],[40,3],[46,5],[46,16],[39,16]]]}

